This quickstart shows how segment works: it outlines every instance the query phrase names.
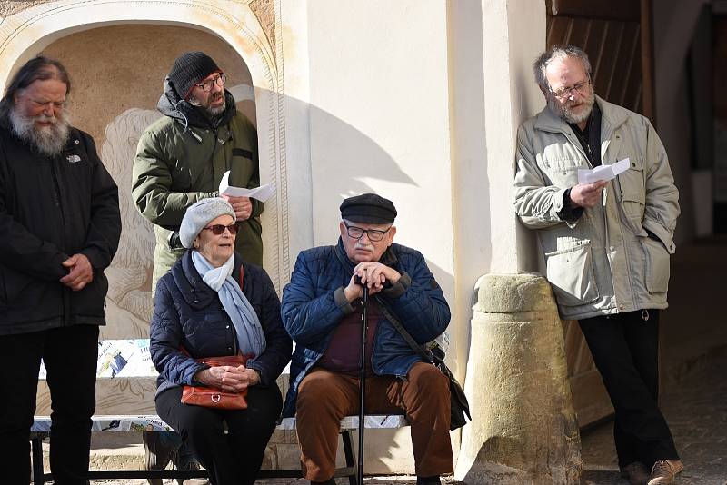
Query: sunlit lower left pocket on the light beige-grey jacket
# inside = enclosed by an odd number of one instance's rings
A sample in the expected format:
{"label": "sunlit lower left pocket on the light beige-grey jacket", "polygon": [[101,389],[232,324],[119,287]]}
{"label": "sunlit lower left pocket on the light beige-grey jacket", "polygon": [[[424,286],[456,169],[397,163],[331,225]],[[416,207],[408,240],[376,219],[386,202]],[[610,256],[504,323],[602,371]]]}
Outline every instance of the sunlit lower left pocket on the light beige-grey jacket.
{"label": "sunlit lower left pocket on the light beige-grey jacket", "polygon": [[547,252],[545,259],[548,282],[553,286],[559,304],[583,305],[601,296],[594,278],[590,241],[580,241],[561,251]]}

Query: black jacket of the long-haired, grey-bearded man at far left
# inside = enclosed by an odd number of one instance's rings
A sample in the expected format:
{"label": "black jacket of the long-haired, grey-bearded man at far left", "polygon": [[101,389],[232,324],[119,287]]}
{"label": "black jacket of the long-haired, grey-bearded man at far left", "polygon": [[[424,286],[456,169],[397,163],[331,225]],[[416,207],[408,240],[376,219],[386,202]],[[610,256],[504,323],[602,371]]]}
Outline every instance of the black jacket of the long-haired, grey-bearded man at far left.
{"label": "black jacket of the long-haired, grey-bearded man at far left", "polygon": [[[50,158],[0,124],[0,335],[105,324],[104,270],[120,235],[118,189],[90,135],[72,129]],[[73,292],[61,263],[79,252],[94,280]]]}

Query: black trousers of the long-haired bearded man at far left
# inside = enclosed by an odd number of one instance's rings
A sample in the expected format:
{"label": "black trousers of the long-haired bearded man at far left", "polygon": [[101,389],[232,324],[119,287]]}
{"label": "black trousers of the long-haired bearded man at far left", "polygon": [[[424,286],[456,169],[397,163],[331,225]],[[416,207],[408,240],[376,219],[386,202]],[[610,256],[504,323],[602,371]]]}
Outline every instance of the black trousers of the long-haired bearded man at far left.
{"label": "black trousers of the long-haired bearded man at far left", "polygon": [[[42,304],[42,303],[39,303]],[[74,325],[0,336],[0,457],[3,483],[30,482],[30,428],[41,358],[51,392],[51,452],[57,485],[86,485],[95,410],[98,327]]]}

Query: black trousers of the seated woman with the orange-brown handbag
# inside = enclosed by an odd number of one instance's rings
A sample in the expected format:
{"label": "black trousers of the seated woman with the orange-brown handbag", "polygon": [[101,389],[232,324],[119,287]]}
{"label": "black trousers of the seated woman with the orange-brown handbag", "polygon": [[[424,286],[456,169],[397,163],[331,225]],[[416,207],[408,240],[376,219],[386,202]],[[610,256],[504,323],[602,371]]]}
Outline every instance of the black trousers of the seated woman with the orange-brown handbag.
{"label": "black trousers of the seated woman with the orange-brown handbag", "polygon": [[252,485],[283,410],[278,386],[273,383],[248,388],[247,409],[238,411],[182,404],[181,398],[181,387],[163,391],[156,396],[156,412],[179,432],[188,449],[210,472],[213,485]]}

